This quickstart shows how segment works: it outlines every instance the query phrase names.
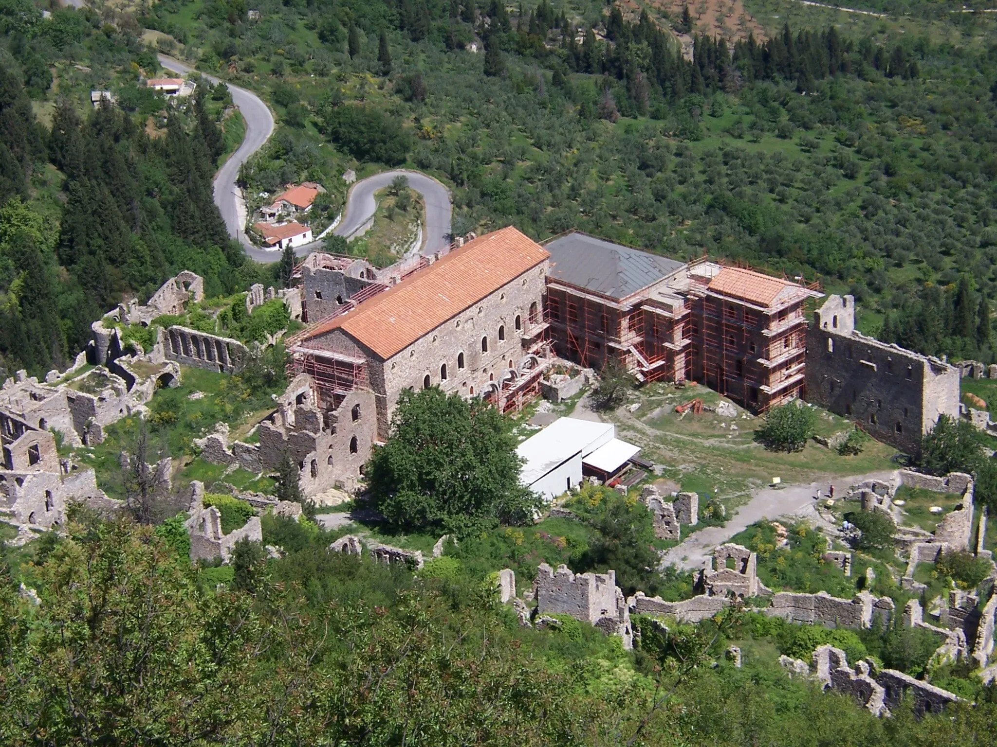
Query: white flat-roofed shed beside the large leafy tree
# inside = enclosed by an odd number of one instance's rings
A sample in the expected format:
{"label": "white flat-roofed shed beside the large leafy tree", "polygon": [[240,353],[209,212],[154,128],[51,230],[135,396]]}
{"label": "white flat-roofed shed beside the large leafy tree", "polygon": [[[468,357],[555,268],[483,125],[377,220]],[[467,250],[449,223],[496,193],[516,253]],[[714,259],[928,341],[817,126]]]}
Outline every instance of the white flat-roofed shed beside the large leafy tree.
{"label": "white flat-roofed shed beside the large leafy tree", "polygon": [[616,438],[612,423],[561,417],[516,447],[524,460],[519,481],[549,501],[583,474],[612,477],[639,450]]}

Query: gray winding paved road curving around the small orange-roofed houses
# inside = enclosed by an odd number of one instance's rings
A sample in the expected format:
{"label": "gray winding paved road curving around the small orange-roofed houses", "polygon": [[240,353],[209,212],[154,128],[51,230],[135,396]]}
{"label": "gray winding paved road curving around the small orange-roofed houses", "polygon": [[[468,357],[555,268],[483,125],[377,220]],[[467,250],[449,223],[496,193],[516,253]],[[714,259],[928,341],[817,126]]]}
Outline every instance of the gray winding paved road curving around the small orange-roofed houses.
{"label": "gray winding paved road curving around the small orange-roofed houses", "polygon": [[[180,75],[186,75],[193,70],[191,66],[166,57],[166,55],[160,55],[160,65],[166,70]],[[201,73],[201,75],[204,74]],[[213,76],[204,75],[204,77],[212,84],[218,83],[218,79]],[[270,114],[266,104],[255,94],[238,86],[226,85],[232,94],[232,102],[239,108],[242,119],[245,120],[246,133],[242,144],[222,164],[214,177],[214,203],[221,212],[229,235],[242,245],[249,257],[257,262],[276,262],[280,258],[279,251],[260,249],[246,237],[244,203],[239,199],[238,187],[235,184],[239,168],[262,147],[273,133],[273,115]],[[391,184],[392,179],[396,176],[406,176],[409,179],[409,186],[422,195],[426,204],[426,225],[423,226],[421,251],[424,254],[432,254],[446,247],[450,243],[452,211],[450,191],[432,176],[421,171],[404,169],[384,171],[356,182],[350,188],[346,198],[346,207],[343,210],[343,218],[333,233],[337,236],[347,237],[358,233],[370,221],[377,209],[374,192]],[[294,253],[302,256],[321,248],[322,242],[315,241],[297,247]]]}

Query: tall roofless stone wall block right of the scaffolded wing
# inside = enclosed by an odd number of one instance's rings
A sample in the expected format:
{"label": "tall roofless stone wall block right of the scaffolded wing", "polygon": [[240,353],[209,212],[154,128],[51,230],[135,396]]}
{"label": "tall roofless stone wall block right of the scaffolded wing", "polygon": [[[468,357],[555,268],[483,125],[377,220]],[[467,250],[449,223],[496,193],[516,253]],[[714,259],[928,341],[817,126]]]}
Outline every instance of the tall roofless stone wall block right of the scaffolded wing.
{"label": "tall roofless stone wall block right of the scaffolded wing", "polygon": [[815,312],[807,333],[807,399],[916,453],[939,414],[959,416],[958,371],[853,328],[850,296],[831,296]]}

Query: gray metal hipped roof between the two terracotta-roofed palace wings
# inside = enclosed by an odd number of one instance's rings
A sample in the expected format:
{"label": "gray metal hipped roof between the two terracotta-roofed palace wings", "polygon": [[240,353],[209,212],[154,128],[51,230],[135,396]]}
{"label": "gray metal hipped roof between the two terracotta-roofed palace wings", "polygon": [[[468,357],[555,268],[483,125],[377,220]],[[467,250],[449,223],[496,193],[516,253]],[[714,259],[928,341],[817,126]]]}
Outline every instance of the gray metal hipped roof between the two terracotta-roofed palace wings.
{"label": "gray metal hipped roof between the two terracotta-roofed palace wings", "polygon": [[583,233],[569,233],[543,248],[550,252],[554,279],[613,299],[631,296],[684,265]]}

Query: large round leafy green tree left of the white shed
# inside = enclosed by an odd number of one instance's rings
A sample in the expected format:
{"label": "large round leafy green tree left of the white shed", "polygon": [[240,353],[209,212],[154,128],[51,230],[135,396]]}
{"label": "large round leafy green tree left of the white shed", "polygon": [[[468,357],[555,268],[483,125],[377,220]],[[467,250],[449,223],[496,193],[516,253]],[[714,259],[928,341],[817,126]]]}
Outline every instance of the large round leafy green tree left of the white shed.
{"label": "large round leafy green tree left of the white shed", "polygon": [[406,529],[467,535],[532,515],[508,423],[481,399],[403,391],[387,443],[367,465],[374,506]]}

